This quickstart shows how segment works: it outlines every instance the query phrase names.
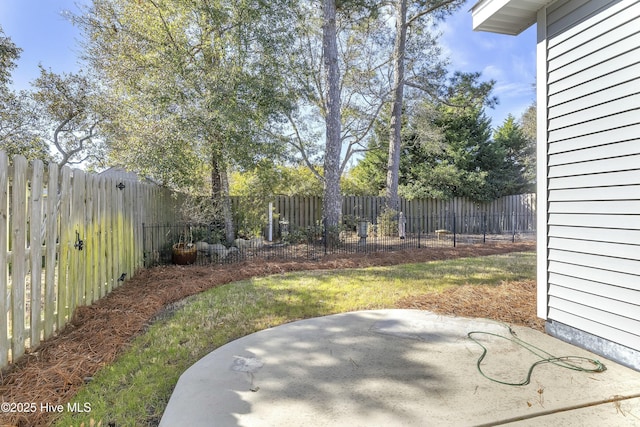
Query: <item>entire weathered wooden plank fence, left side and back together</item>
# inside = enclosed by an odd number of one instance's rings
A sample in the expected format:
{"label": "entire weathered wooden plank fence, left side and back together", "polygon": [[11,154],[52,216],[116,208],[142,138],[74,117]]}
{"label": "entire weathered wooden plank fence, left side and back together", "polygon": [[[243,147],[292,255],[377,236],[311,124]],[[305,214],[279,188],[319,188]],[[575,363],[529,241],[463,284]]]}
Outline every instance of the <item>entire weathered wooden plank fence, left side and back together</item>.
{"label": "entire weathered wooden plank fence, left side and back together", "polygon": [[[33,349],[73,317],[120,286],[144,265],[144,247],[172,236],[145,234],[143,224],[175,224],[182,199],[126,175],[91,175],[55,164],[12,164],[0,151],[0,368]],[[236,209],[241,201],[234,201]],[[407,232],[429,233],[458,221],[464,232],[535,227],[535,195],[478,204],[466,199],[401,200]],[[267,207],[264,213],[266,217]],[[377,221],[381,197],[345,197],[345,220]],[[313,227],[322,220],[319,197],[273,198],[274,222]],[[455,214],[455,218],[454,218]],[[265,222],[266,224],[266,222]],[[507,228],[505,228],[507,227]],[[153,254],[152,254],[153,255]]]}

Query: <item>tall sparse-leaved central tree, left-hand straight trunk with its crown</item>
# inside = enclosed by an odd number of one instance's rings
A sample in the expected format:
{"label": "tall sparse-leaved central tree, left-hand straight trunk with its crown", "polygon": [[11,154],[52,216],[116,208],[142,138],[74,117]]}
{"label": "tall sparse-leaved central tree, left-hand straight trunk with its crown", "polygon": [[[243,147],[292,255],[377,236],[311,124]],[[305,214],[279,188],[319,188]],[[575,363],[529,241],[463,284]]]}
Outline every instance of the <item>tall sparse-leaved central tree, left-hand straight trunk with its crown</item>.
{"label": "tall sparse-leaved central tree, left-hand straight trunk with its crown", "polygon": [[[388,95],[388,27],[372,1],[301,2],[287,60],[297,108],[281,134],[322,183],[326,224],[338,224],[340,180],[366,149]],[[386,80],[386,82],[385,82]]]}

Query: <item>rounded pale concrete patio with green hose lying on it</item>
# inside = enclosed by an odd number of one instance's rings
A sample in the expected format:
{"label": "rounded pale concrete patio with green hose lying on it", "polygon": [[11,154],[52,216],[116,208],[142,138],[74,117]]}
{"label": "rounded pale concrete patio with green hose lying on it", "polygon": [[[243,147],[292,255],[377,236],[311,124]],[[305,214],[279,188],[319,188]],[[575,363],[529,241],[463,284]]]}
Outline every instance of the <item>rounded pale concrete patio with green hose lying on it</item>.
{"label": "rounded pale concrete patio with green hose lying on it", "polygon": [[[178,381],[161,426],[634,426],[640,372],[541,332],[514,327],[554,356],[604,372],[540,364],[485,319],[375,310],[307,319],[216,349]],[[584,368],[596,366],[572,359]]]}

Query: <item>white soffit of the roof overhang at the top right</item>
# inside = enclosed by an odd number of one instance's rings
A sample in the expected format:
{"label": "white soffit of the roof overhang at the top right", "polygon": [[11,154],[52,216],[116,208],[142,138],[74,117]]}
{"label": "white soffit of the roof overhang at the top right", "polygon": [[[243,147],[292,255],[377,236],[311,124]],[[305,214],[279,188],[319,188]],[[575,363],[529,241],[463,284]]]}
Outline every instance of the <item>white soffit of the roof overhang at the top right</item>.
{"label": "white soffit of the roof overhang at the top right", "polygon": [[471,8],[474,31],[518,35],[536,22],[550,0],[480,0]]}

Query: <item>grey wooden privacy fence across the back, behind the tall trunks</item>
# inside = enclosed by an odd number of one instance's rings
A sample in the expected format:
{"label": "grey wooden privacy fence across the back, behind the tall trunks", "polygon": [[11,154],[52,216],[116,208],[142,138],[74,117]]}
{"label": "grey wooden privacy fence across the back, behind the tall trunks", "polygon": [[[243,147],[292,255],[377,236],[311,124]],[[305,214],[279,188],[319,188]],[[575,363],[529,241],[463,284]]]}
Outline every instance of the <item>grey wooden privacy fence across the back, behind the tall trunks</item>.
{"label": "grey wooden privacy fence across the back, behind the tall trunks", "polygon": [[[234,211],[242,209],[242,199],[232,198]],[[343,221],[367,219],[376,223],[384,211],[385,199],[372,196],[345,196],[342,199]],[[267,207],[264,207],[267,212]],[[459,230],[471,223],[482,223],[487,230],[534,231],[536,195],[505,196],[486,203],[473,202],[465,197],[449,200],[400,199],[400,209],[406,218],[408,232],[429,233],[439,228],[451,228],[453,221]],[[287,221],[292,228],[306,228],[320,224],[322,198],[303,196],[274,196],[273,215],[277,221]]]}

